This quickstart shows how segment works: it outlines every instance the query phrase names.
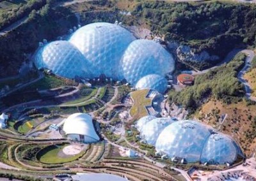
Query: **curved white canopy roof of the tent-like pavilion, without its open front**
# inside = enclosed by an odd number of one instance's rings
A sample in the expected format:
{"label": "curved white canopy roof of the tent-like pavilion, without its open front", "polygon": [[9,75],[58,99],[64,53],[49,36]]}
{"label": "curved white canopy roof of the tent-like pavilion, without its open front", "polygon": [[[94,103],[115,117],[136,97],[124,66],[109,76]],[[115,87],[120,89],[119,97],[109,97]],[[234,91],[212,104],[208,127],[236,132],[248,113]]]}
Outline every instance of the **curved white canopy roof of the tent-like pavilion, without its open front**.
{"label": "curved white canopy roof of the tent-like pavilion, without its open front", "polygon": [[95,141],[100,140],[94,129],[92,117],[87,113],[74,113],[70,115],[64,122],[63,131],[66,134],[81,134]]}

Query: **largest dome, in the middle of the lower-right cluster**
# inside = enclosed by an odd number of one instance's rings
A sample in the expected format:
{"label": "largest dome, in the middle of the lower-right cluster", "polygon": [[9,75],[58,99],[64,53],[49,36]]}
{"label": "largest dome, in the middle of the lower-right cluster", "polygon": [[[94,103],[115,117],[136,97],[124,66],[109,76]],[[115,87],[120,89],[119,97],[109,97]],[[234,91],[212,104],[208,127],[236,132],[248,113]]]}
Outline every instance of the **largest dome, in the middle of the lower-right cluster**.
{"label": "largest dome, in the middle of the lower-right cluster", "polygon": [[180,120],[167,126],[156,141],[156,150],[169,157],[181,157],[189,163],[200,161],[210,131],[193,120]]}

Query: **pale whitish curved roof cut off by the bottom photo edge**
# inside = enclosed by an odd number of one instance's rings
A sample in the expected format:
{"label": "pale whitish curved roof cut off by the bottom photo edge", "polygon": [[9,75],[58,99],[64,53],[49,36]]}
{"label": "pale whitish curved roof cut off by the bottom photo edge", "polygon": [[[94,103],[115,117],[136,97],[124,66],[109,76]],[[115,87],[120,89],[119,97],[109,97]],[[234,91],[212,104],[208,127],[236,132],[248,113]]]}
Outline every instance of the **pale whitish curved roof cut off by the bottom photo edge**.
{"label": "pale whitish curved roof cut off by the bottom photo edge", "polygon": [[127,181],[127,178],[119,177],[117,175],[111,175],[108,173],[84,173],[72,175],[73,180],[75,181]]}

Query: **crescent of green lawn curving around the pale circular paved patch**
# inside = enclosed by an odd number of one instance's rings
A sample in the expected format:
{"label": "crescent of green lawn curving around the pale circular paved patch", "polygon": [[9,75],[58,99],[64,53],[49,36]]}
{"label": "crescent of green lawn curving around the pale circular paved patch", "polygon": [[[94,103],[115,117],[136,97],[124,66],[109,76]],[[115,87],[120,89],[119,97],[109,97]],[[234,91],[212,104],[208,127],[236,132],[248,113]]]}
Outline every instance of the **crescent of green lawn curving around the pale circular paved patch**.
{"label": "crescent of green lawn curving around the pale circular paved patch", "polygon": [[58,157],[58,152],[62,150],[62,148],[68,146],[68,144],[64,145],[51,145],[49,147],[46,147],[40,152],[38,152],[38,159],[41,163],[45,164],[60,164],[60,163],[67,163],[70,161],[75,161],[76,159],[79,159],[79,157],[83,156],[85,151],[70,157]]}

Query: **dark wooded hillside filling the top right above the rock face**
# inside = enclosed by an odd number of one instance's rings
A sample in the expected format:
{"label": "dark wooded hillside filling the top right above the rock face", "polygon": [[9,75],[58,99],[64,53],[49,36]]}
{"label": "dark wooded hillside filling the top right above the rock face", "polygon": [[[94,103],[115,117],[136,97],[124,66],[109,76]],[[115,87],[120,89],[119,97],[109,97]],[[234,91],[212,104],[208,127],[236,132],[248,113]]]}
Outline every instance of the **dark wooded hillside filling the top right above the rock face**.
{"label": "dark wooded hillside filling the top right above the rock face", "polygon": [[[254,4],[245,3],[140,1],[132,15],[167,41],[178,41],[195,52],[207,50],[223,58],[237,46],[255,47],[255,12]],[[199,69],[210,64],[193,62]]]}

